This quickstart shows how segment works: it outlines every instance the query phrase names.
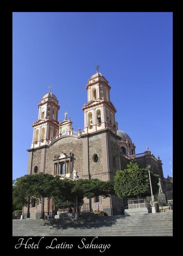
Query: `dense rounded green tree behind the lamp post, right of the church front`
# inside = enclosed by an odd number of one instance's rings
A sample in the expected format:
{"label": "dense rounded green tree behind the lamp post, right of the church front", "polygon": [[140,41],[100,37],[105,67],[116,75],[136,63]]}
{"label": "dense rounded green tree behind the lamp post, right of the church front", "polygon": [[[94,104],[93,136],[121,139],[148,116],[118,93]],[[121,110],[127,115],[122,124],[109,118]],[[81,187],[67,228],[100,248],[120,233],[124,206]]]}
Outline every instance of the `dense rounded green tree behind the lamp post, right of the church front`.
{"label": "dense rounded green tree behind the lamp post, right of the church front", "polygon": [[[150,172],[153,194],[158,192],[158,175]],[[139,168],[137,163],[132,161],[127,165],[127,169],[117,170],[114,177],[114,190],[119,198],[123,197],[145,197],[151,195],[148,170]]]}

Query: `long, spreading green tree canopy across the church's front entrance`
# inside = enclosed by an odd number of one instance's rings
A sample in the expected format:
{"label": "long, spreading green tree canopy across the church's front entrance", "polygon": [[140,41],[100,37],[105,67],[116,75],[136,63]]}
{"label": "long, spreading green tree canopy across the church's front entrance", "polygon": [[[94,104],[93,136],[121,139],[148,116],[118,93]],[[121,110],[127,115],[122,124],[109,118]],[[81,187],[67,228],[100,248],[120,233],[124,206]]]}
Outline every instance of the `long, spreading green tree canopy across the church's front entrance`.
{"label": "long, spreading green tree canopy across the church's front entrance", "polygon": [[13,203],[18,207],[28,206],[32,197],[36,198],[37,204],[43,197],[52,198],[53,204],[60,207],[67,202],[83,202],[83,198],[95,196],[108,197],[114,194],[113,181],[101,181],[98,179],[80,179],[71,181],[60,180],[59,176],[50,174],[25,175],[13,181]]}

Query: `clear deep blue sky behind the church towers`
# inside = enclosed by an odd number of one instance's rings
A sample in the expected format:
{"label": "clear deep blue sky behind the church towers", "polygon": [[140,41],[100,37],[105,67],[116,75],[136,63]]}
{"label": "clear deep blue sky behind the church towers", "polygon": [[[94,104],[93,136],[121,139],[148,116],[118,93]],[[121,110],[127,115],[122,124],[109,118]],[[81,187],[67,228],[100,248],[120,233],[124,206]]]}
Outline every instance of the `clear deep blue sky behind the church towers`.
{"label": "clear deep blue sky behind the church towers", "polygon": [[164,176],[172,159],[171,12],[13,13],[13,179],[27,174],[28,152],[41,97],[66,100],[74,130],[83,129],[87,80],[109,81],[118,129],[160,156]]}

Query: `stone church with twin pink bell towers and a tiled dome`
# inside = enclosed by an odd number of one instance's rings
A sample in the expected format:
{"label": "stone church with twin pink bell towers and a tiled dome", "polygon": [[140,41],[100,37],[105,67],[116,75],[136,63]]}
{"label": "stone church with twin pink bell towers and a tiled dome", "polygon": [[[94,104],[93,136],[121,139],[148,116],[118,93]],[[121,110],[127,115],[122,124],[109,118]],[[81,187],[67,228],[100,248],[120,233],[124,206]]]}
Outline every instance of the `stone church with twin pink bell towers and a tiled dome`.
{"label": "stone church with twin pink bell towers and a tiled dome", "polygon": [[[87,104],[84,104],[84,129],[73,131],[71,118],[64,114],[63,121],[58,122],[57,97],[50,91],[41,98],[38,105],[38,120],[32,124],[33,138],[29,152],[27,174],[39,172],[59,175],[60,178],[74,180],[77,172],[79,178],[97,178],[103,181],[113,180],[116,170],[126,168],[132,160],[139,167],[151,164],[151,171],[164,179],[164,189],[171,190],[171,184],[163,177],[162,162],[149,151],[135,153],[131,138],[118,130],[115,120],[116,109],[110,98],[110,85],[107,79],[97,72],[88,79]],[[85,203],[95,210],[108,215],[121,214],[123,200],[111,195],[109,198],[96,197],[86,199]],[[43,218],[48,211],[55,210],[51,199],[43,198],[38,205],[31,202],[24,208],[24,216]]]}

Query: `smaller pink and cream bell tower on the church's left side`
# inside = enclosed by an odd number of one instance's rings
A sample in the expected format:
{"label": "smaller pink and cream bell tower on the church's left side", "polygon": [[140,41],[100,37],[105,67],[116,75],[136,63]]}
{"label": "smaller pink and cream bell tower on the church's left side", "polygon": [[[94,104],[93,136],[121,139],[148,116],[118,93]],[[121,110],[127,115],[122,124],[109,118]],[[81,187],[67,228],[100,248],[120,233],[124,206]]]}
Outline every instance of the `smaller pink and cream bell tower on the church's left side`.
{"label": "smaller pink and cream bell tower on the church's left side", "polygon": [[49,86],[49,93],[43,95],[41,103],[38,104],[38,120],[32,124],[33,138],[31,148],[37,148],[46,144],[46,141],[57,135],[58,127],[58,105],[57,97],[51,92],[52,85]]}

